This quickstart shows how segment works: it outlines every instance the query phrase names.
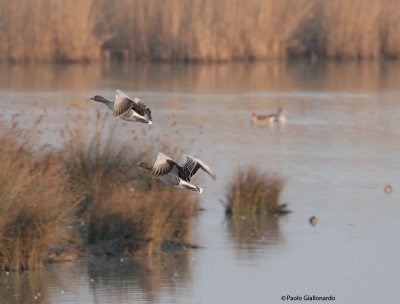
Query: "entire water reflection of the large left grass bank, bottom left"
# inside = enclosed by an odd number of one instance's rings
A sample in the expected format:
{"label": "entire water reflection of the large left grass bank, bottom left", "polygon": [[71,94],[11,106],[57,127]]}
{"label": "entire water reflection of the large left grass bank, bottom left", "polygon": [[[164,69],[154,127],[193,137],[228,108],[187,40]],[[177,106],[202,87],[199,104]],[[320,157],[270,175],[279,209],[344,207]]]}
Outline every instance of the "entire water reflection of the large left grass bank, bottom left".
{"label": "entire water reflection of the large left grass bank, bottom left", "polygon": [[95,258],[2,273],[0,303],[157,303],[190,288],[189,251],[143,258]]}

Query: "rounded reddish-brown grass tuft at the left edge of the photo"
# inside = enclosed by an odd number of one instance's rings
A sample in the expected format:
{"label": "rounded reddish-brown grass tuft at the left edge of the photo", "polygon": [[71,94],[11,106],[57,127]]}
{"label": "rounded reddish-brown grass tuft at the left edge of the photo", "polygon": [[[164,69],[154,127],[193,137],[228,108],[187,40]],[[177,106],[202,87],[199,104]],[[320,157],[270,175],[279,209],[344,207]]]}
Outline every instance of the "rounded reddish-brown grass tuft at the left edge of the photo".
{"label": "rounded reddish-brown grass tuft at the left edge of the photo", "polygon": [[[33,132],[34,133],[34,132]],[[31,132],[1,125],[0,267],[38,268],[50,249],[68,240],[74,196],[59,172],[60,158],[37,151]]]}

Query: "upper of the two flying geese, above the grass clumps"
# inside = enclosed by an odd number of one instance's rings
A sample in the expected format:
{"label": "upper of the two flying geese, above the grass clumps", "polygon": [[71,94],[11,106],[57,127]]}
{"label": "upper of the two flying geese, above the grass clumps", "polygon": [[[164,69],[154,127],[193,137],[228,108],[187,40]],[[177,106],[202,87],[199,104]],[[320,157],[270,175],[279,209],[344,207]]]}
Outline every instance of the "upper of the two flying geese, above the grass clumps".
{"label": "upper of the two flying geese, above the grass clumps", "polygon": [[96,95],[90,100],[101,102],[114,113],[114,117],[121,118],[126,121],[137,121],[151,125],[151,110],[139,98],[131,99],[121,90],[115,91],[114,101],[109,101],[103,96]]}

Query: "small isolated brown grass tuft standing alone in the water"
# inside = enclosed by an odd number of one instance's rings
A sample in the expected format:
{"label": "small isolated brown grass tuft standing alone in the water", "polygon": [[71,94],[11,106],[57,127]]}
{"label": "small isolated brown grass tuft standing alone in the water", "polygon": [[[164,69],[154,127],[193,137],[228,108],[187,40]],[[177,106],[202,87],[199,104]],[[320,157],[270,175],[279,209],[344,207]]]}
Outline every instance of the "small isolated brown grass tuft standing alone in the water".
{"label": "small isolated brown grass tuft standing alone in the water", "polygon": [[280,196],[285,180],[250,166],[238,169],[226,196],[227,215],[283,215],[289,211],[281,204]]}

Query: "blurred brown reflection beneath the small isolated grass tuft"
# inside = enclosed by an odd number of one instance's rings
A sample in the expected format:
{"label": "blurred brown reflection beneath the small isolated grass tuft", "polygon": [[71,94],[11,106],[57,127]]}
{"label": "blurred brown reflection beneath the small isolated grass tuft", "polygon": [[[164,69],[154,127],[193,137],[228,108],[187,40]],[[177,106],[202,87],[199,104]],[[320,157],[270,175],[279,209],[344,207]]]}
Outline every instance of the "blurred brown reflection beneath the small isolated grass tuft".
{"label": "blurred brown reflection beneath the small isolated grass tuft", "polygon": [[226,227],[238,258],[257,258],[268,246],[282,245],[285,239],[275,216],[229,216]]}

